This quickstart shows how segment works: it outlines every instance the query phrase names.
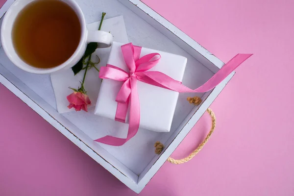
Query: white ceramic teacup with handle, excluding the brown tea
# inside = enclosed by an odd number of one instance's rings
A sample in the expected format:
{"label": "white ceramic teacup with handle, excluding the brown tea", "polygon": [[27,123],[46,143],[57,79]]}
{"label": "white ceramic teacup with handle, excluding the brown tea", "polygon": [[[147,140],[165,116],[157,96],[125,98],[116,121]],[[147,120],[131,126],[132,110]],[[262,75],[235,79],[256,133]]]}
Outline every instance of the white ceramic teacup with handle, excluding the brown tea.
{"label": "white ceramic teacup with handle, excluding the brown tea", "polygon": [[73,8],[80,21],[81,37],[77,49],[66,62],[53,68],[44,69],[28,65],[19,57],[14,49],[12,29],[18,13],[20,13],[20,11],[22,11],[22,9],[24,9],[25,6],[32,1],[35,0],[16,0],[6,12],[1,26],[2,47],[8,58],[22,70],[30,73],[53,73],[61,69],[68,69],[73,67],[82,58],[88,43],[97,42],[98,48],[107,48],[112,45],[113,37],[110,33],[100,30],[90,31],[87,29],[84,14],[74,0],[61,0]]}

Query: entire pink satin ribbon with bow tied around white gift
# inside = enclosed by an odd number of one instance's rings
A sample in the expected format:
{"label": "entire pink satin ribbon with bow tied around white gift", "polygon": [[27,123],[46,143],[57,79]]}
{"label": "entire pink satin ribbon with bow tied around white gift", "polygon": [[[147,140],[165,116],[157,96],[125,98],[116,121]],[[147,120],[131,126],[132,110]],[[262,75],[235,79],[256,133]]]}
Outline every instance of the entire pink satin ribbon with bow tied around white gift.
{"label": "entire pink satin ribbon with bow tied around white gift", "polygon": [[[227,62],[214,76],[212,76],[202,86],[192,90],[184,86],[181,82],[172,79],[170,76],[156,71],[147,70],[154,67],[161,56],[159,53],[147,54],[140,58],[141,47],[133,46],[132,43],[122,46],[124,61],[129,68],[129,73],[124,70],[107,64],[101,67],[99,77],[102,79],[113,79],[123,81],[116,101],[118,102],[115,120],[125,123],[125,118],[130,105],[129,128],[126,138],[117,138],[113,136],[105,136],[95,140],[96,142],[122,146],[129,139],[134,137],[138,132],[140,125],[140,102],[137,91],[137,81],[145,82],[154,86],[170,89],[179,93],[204,93],[215,88],[221,81],[232,73],[239,65],[241,65],[252,54],[237,54],[229,62]],[[151,60],[158,56],[157,59]]]}

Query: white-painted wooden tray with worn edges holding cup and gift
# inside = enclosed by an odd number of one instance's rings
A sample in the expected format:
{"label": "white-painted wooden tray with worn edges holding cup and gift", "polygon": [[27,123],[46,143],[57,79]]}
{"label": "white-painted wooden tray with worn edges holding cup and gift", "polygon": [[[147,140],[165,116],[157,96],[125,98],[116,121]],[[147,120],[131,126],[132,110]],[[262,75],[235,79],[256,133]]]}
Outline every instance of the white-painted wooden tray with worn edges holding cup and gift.
{"label": "white-painted wooden tray with worn edges holding cup and gift", "polygon": [[[98,21],[101,12],[106,12],[107,18],[123,15],[129,41],[133,44],[187,57],[183,84],[192,89],[202,85],[224,65],[140,0],[76,1],[87,23]],[[142,191],[233,75],[210,92],[180,94],[170,133],[139,130],[122,147],[112,147],[93,140],[108,133],[124,137],[127,125],[93,115],[94,108],[89,113],[59,114],[49,75],[25,73],[14,66],[0,48],[0,82],[136,193]],[[188,96],[198,96],[203,101],[194,107],[186,100]],[[165,145],[160,155],[154,153],[156,141]]]}

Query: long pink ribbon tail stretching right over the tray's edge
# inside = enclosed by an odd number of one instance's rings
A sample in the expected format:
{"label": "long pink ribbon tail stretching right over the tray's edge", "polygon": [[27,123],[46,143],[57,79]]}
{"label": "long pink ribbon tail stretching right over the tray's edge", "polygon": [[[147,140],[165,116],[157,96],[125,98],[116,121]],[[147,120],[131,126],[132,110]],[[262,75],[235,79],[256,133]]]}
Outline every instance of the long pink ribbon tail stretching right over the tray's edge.
{"label": "long pink ribbon tail stretching right over the tray's edge", "polygon": [[230,73],[232,73],[238,66],[240,66],[252,54],[237,54],[228,63],[226,63],[214,76],[207,82],[196,89],[190,89],[179,81],[172,79],[170,76],[161,72],[142,72],[139,73],[138,80],[146,82],[151,85],[167,88],[179,93],[204,93],[215,88],[221,83]]}

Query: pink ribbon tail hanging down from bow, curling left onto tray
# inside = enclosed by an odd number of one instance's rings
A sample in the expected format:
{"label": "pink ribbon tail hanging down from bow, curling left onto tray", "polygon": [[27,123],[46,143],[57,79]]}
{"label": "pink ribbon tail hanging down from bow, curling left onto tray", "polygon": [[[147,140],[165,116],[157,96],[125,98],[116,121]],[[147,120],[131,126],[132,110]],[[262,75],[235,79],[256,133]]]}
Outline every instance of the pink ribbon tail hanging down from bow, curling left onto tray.
{"label": "pink ribbon tail hanging down from bow, curling left onto tray", "polygon": [[105,137],[95,140],[96,142],[111,146],[122,146],[137,134],[140,125],[140,102],[137,91],[137,79],[130,78],[130,84],[132,92],[130,96],[130,121],[127,137],[123,139],[107,135]]}

